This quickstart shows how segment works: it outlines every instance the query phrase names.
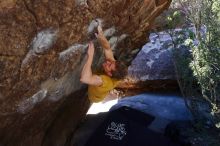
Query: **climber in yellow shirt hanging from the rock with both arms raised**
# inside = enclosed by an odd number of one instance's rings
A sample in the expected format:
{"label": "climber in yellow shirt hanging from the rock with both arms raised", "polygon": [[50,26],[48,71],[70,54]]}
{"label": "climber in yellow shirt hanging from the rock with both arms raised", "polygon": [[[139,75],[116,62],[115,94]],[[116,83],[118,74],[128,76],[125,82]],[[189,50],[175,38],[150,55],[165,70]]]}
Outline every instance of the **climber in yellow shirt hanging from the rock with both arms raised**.
{"label": "climber in yellow shirt hanging from the rock with both arms raised", "polygon": [[89,43],[87,61],[82,69],[80,81],[88,84],[88,97],[91,102],[102,101],[108,93],[114,89],[119,82],[127,75],[127,67],[121,61],[116,61],[110,44],[103,34],[101,26],[98,26],[95,34],[102,48],[104,49],[105,61],[102,64],[103,73],[94,74],[91,66],[94,56],[94,44]]}

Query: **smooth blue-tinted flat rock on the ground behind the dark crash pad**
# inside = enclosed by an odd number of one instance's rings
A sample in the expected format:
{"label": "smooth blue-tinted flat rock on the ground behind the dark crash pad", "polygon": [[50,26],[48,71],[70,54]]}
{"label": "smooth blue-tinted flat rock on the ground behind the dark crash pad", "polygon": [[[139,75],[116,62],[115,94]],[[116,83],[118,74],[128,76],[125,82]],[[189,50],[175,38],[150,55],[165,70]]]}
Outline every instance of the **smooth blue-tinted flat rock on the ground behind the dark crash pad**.
{"label": "smooth blue-tinted flat rock on the ground behind the dark crash pad", "polygon": [[147,93],[123,98],[111,110],[129,106],[155,117],[167,120],[191,120],[190,111],[186,108],[181,95],[170,93]]}

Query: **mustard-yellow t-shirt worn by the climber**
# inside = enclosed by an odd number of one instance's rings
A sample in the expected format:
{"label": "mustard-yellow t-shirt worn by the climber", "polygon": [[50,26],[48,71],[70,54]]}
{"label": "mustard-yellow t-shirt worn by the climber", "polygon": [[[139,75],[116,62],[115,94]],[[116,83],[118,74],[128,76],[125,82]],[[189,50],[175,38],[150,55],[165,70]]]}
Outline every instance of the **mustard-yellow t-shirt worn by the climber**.
{"label": "mustard-yellow t-shirt worn by the climber", "polygon": [[89,85],[88,87],[88,97],[91,102],[100,102],[102,101],[106,95],[114,89],[118,83],[117,80],[112,79],[107,75],[100,75],[102,78],[102,85],[101,86],[92,86]]}

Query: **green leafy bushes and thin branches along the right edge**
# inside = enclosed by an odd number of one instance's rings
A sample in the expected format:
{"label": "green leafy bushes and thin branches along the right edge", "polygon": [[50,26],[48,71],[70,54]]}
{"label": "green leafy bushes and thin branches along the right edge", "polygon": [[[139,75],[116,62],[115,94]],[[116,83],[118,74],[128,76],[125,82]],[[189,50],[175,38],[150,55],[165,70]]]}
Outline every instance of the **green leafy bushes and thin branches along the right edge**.
{"label": "green leafy bushes and thin branches along the right edge", "polygon": [[[179,4],[179,10],[167,18],[169,26],[176,26],[181,13],[186,23],[195,28],[183,30],[188,38],[170,32],[174,38],[174,60],[182,93],[191,100],[205,99],[216,127],[220,127],[220,0],[176,0],[174,3]],[[191,48],[190,55],[178,55],[183,42]],[[199,107],[194,106],[195,101],[188,105],[198,117]]]}

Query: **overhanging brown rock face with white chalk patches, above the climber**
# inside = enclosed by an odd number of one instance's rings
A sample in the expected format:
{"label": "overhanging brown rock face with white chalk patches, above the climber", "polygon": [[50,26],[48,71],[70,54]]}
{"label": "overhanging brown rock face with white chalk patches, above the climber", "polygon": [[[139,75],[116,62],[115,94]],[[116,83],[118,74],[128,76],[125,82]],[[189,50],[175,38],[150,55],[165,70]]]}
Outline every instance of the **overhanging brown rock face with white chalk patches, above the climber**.
{"label": "overhanging brown rock face with white chalk patches, above the climber", "polygon": [[129,64],[170,2],[0,0],[0,145],[64,145],[89,105],[79,76],[97,21]]}

